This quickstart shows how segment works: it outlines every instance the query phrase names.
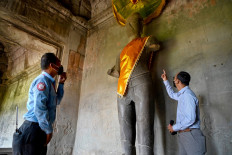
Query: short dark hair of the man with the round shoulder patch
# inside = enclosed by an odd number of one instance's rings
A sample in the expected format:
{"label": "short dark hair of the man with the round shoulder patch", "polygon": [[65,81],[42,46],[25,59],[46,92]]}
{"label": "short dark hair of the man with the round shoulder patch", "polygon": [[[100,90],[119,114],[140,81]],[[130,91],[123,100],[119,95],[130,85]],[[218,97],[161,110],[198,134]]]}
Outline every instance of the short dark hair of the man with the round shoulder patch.
{"label": "short dark hair of the man with the round shoulder patch", "polygon": [[47,69],[50,65],[50,63],[56,64],[57,57],[54,53],[45,53],[41,57],[41,69]]}

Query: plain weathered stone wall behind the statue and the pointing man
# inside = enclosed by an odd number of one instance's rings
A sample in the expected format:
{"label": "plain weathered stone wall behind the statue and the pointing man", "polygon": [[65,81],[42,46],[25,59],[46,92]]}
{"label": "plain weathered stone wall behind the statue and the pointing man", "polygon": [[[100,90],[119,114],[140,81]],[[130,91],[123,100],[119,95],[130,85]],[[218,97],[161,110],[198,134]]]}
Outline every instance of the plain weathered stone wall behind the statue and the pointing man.
{"label": "plain weathered stone wall behind the statue and the pointing man", "polygon": [[[232,3],[229,0],[168,1],[162,15],[144,32],[161,44],[155,53],[152,76],[155,100],[156,155],[177,154],[177,137],[166,126],[176,117],[160,78],[166,69],[169,80],[181,70],[192,76],[190,87],[200,100],[201,129],[207,140],[208,155],[231,154]],[[92,13],[94,14],[94,13]],[[73,154],[121,154],[117,114],[117,79],[106,72],[128,43],[126,30],[112,14],[90,23],[83,71],[77,132]],[[101,20],[103,20],[101,19]]]}

